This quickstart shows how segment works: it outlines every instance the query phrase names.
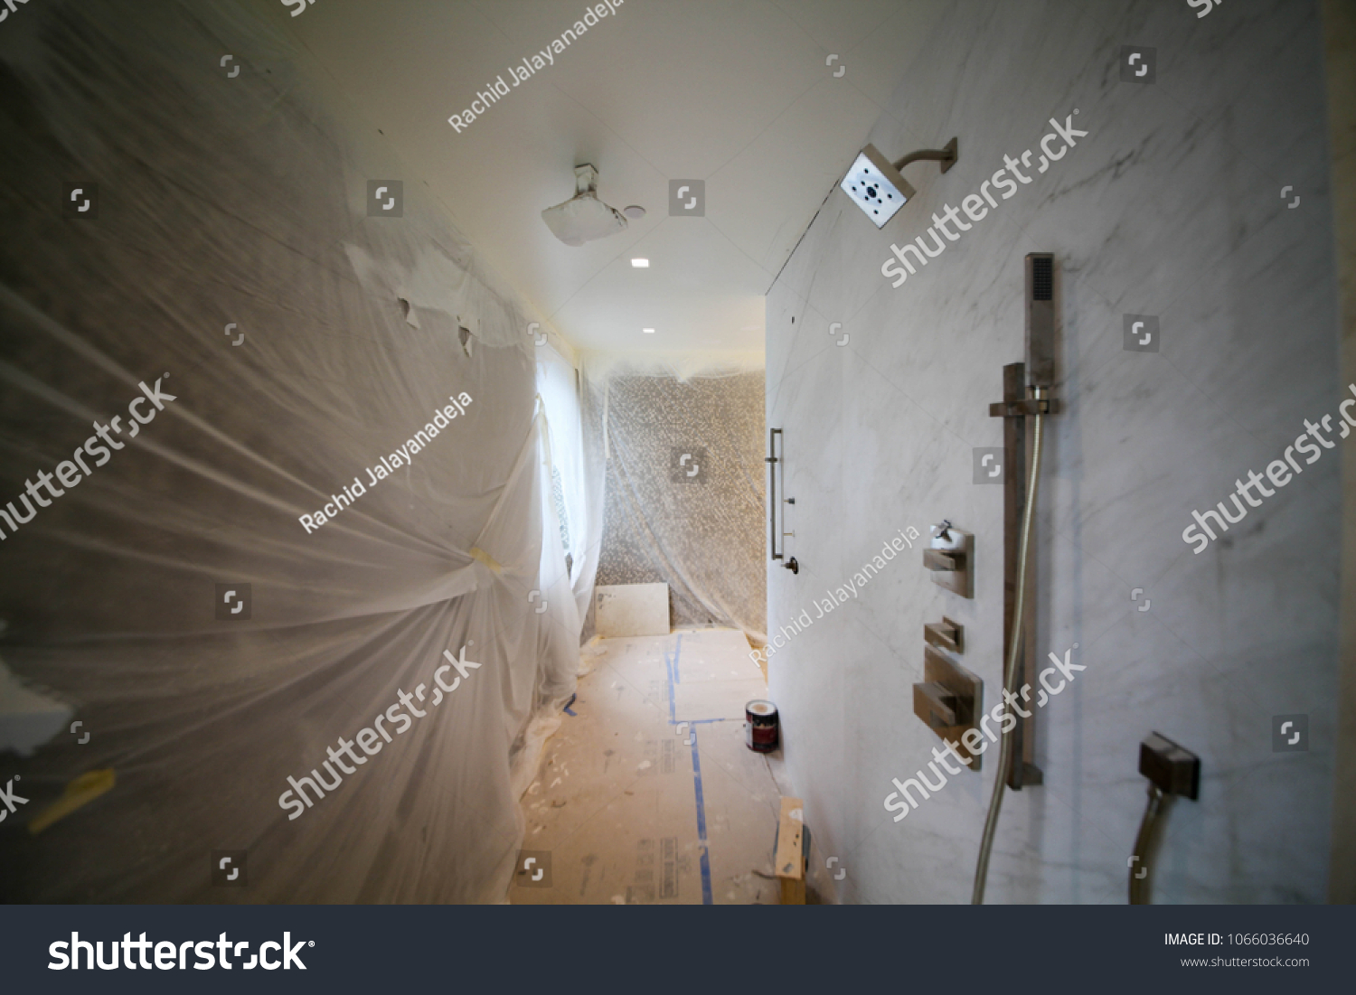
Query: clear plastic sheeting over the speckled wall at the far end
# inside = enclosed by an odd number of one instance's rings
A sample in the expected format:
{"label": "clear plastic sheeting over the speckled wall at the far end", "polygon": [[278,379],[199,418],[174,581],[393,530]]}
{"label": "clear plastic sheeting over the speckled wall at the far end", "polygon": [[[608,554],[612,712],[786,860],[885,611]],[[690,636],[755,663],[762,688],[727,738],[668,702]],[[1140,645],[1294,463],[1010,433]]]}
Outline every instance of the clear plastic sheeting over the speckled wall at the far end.
{"label": "clear plastic sheeting over the speckled wall at the far end", "polygon": [[766,643],[761,358],[584,354],[582,369],[587,447],[606,474],[598,583],[667,583],[675,626]]}

